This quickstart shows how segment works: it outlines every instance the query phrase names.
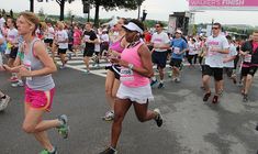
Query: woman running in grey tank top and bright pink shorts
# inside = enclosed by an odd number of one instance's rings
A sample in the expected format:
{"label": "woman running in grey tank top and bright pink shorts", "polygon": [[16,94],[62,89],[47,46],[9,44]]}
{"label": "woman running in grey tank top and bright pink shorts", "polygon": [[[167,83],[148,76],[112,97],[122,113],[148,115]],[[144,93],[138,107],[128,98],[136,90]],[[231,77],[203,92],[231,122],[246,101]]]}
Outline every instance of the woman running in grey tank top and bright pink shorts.
{"label": "woman running in grey tank top and bright pink shorts", "polygon": [[[45,148],[41,154],[57,154],[57,150],[49,142],[46,131],[58,128],[59,133],[67,138],[67,117],[63,114],[55,120],[43,120],[44,113],[51,111],[52,107],[55,84],[51,74],[56,72],[56,66],[48,56],[45,44],[35,37],[38,24],[40,20],[34,13],[22,12],[20,14],[18,20],[19,34],[23,35],[26,43],[24,65],[11,69],[18,72],[19,76],[26,77],[23,130],[26,133],[34,134]],[[4,66],[8,68],[7,65]]]}

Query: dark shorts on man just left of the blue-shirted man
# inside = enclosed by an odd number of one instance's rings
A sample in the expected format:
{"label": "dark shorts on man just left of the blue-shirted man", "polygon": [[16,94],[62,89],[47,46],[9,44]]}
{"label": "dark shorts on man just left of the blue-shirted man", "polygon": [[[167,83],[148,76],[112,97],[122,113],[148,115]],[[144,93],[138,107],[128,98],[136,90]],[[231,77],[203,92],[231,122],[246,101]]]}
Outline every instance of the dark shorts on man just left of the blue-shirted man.
{"label": "dark shorts on man just left of the blue-shirted man", "polygon": [[156,52],[152,54],[152,59],[154,64],[157,64],[159,68],[165,68],[167,64],[168,52]]}

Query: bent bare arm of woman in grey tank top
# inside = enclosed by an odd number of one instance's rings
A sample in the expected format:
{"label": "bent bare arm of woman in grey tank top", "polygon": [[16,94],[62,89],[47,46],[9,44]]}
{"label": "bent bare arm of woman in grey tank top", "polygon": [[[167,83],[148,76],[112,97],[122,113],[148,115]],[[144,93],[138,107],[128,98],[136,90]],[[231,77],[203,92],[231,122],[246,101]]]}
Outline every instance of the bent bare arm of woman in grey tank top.
{"label": "bent bare arm of woman in grey tank top", "polygon": [[24,77],[34,77],[34,76],[44,76],[49,75],[56,72],[56,65],[53,59],[48,56],[45,45],[42,42],[36,42],[34,45],[35,56],[43,63],[44,68],[38,70],[27,70],[25,67],[20,68],[20,76]]}

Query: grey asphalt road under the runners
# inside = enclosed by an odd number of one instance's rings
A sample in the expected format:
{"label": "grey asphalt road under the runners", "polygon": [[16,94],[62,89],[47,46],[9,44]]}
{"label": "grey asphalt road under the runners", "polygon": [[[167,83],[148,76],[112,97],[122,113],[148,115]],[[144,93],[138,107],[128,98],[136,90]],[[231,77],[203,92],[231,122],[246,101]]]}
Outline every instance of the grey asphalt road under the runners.
{"label": "grey asphalt road under the runners", "polygon": [[[0,113],[0,153],[36,154],[41,146],[21,130],[23,89],[11,88],[8,76],[0,73],[0,87],[12,97],[9,108]],[[69,117],[70,138],[63,140],[56,130],[51,139],[60,154],[98,154],[108,145],[111,122],[100,119],[108,109],[104,78],[63,69],[54,75],[56,96],[46,119],[61,113]],[[254,82],[250,102],[243,103],[239,87],[226,80],[220,105],[202,102],[200,70],[183,69],[182,82],[168,78],[165,89],[154,88],[155,102],[161,109],[162,128],[154,121],[139,123],[133,108],[123,123],[121,154],[255,154],[258,150],[258,80]]]}

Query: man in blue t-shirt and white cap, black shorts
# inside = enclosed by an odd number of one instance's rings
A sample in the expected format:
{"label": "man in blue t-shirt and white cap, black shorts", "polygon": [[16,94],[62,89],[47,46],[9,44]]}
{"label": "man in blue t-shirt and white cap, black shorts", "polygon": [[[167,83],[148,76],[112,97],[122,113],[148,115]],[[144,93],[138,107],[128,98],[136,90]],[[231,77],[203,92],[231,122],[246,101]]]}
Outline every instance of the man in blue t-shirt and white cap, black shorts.
{"label": "man in blue t-shirt and white cap, black shorts", "polygon": [[176,31],[176,37],[170,44],[172,48],[172,55],[170,61],[170,66],[172,67],[172,81],[180,81],[180,67],[182,64],[183,55],[188,50],[187,42],[182,38],[182,31]]}

